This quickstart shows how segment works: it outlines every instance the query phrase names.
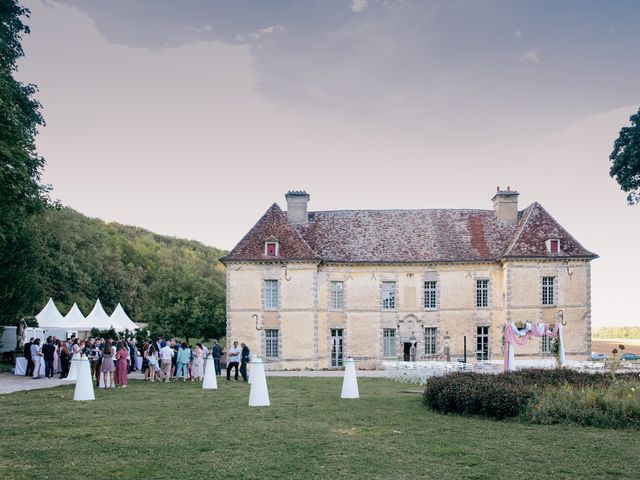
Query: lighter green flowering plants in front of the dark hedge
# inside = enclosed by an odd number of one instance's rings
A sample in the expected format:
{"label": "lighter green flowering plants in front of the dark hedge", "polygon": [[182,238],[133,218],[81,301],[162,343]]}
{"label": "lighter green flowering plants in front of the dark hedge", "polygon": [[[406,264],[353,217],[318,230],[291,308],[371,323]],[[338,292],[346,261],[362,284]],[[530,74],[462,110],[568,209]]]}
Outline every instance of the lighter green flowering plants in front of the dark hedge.
{"label": "lighter green flowering plants in front of the dark hedge", "polygon": [[541,424],[640,428],[640,382],[615,382],[604,389],[565,385],[545,390],[536,395],[522,418]]}

